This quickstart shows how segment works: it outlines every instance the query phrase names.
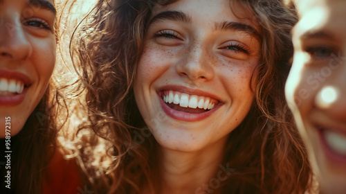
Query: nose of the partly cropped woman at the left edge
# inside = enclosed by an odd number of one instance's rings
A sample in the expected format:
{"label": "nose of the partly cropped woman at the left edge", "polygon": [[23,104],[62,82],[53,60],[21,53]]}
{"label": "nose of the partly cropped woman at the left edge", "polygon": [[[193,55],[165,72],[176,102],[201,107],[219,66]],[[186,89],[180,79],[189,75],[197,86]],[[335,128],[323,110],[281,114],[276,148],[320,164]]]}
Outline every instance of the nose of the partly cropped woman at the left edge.
{"label": "nose of the partly cropped woman at the left edge", "polygon": [[8,13],[0,18],[0,59],[25,60],[33,51],[20,18]]}

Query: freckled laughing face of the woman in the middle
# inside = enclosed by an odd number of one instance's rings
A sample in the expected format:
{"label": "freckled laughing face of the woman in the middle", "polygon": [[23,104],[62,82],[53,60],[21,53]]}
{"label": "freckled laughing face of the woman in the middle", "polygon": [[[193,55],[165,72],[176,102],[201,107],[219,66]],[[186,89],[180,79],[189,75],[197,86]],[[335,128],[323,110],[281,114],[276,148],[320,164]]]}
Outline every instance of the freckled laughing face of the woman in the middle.
{"label": "freckled laughing face of the woman in the middle", "polygon": [[230,6],[229,0],[181,0],[154,8],[134,94],[165,148],[192,152],[224,143],[251,108],[260,37]]}

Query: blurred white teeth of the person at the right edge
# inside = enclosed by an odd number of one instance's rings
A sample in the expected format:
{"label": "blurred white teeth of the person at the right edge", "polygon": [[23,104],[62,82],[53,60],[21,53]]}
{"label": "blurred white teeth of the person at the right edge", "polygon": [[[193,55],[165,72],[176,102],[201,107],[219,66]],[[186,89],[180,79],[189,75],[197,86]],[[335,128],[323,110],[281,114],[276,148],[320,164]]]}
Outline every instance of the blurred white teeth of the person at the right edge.
{"label": "blurred white teeth of the person at the right edge", "polygon": [[329,147],[340,155],[346,155],[346,136],[331,130],[325,130],[325,140]]}

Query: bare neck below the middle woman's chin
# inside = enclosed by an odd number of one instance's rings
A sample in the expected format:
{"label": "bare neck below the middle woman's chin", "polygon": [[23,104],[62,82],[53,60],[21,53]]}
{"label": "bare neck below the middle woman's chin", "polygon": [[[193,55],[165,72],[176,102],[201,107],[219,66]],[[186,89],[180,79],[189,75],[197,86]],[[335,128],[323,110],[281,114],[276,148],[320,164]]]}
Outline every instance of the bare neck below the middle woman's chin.
{"label": "bare neck below the middle woman's chin", "polygon": [[[158,193],[208,193],[217,190],[216,173],[224,156],[227,138],[195,152],[158,149]],[[215,192],[214,192],[215,193]]]}

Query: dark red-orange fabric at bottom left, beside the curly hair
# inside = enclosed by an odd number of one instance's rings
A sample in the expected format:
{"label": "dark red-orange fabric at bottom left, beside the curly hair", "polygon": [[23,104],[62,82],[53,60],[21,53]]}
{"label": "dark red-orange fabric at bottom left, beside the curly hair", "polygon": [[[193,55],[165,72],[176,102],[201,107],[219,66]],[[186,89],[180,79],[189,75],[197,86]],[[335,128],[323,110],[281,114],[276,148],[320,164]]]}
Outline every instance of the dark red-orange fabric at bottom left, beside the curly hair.
{"label": "dark red-orange fabric at bottom left, beside the curly hair", "polygon": [[55,151],[53,159],[48,164],[47,175],[44,179],[44,194],[76,194],[80,193],[80,178],[74,160],[63,158],[59,150]]}

